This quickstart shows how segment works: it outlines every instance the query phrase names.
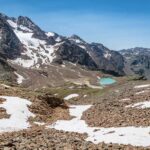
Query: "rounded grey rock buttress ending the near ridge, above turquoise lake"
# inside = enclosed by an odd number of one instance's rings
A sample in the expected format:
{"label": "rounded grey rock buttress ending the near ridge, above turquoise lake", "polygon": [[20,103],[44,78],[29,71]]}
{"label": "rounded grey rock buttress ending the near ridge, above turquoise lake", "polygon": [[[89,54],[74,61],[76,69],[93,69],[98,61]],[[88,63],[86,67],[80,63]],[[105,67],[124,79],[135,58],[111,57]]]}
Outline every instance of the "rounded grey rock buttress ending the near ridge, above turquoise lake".
{"label": "rounded grey rock buttress ending the near ridge, above turquoise lake", "polygon": [[122,55],[116,51],[109,50],[102,44],[92,43],[90,47],[89,53],[99,69],[114,75],[124,75],[124,59]]}

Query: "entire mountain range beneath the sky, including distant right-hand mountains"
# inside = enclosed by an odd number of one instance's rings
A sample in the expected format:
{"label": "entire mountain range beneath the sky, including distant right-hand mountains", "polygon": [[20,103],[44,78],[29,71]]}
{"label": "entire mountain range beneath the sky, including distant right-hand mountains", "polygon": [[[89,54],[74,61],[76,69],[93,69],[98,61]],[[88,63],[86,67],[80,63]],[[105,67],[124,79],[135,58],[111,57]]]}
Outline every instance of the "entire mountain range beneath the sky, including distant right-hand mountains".
{"label": "entire mountain range beneath the sky, including distant right-hand mountains", "polygon": [[[66,64],[86,71],[102,71],[116,76],[139,74],[149,78],[149,57],[149,49],[113,51],[100,43],[88,43],[77,35],[65,37],[45,32],[28,17],[0,14],[1,79],[15,78],[17,70],[27,78],[37,70],[45,75],[54,66],[57,68],[50,72],[57,70],[58,74],[62,74],[58,67]],[[66,69],[71,70],[70,65]],[[32,73],[29,74],[29,71]],[[63,78],[67,79],[68,74]]]}

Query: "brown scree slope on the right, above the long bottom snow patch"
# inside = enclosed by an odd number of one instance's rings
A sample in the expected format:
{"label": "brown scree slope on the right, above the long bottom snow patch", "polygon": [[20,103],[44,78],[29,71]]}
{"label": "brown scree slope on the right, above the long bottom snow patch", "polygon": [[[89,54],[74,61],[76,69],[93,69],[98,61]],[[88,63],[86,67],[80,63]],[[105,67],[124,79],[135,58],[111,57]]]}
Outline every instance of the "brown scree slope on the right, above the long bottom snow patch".
{"label": "brown scree slope on the right, above the long bottom snow patch", "polygon": [[99,102],[84,114],[88,124],[101,127],[149,126],[148,108],[126,107],[150,99],[149,88],[135,89],[134,86],[134,83],[125,84],[108,93],[107,96],[99,98]]}

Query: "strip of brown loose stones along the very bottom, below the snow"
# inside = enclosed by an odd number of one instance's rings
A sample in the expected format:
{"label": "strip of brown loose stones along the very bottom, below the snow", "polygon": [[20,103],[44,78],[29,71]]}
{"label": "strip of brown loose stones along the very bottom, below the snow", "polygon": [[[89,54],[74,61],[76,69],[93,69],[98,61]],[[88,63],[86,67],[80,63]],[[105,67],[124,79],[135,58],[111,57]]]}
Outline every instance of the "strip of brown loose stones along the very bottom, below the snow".
{"label": "strip of brown loose stones along the very bottom, below the snow", "polygon": [[131,145],[100,143],[94,145],[84,141],[86,135],[65,133],[56,130],[35,128],[29,131],[0,135],[0,149],[5,150],[148,150]]}

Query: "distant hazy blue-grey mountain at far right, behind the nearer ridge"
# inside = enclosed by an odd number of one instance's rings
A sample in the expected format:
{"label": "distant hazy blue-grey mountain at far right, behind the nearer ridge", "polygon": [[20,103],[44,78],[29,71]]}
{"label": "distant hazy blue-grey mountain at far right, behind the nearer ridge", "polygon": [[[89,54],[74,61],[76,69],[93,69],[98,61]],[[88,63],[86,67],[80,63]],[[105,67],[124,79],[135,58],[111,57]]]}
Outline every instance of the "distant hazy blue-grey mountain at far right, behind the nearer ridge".
{"label": "distant hazy blue-grey mountain at far right, behind the nearer ridge", "polygon": [[120,53],[125,59],[126,74],[138,74],[150,79],[150,49],[136,47],[121,50]]}

